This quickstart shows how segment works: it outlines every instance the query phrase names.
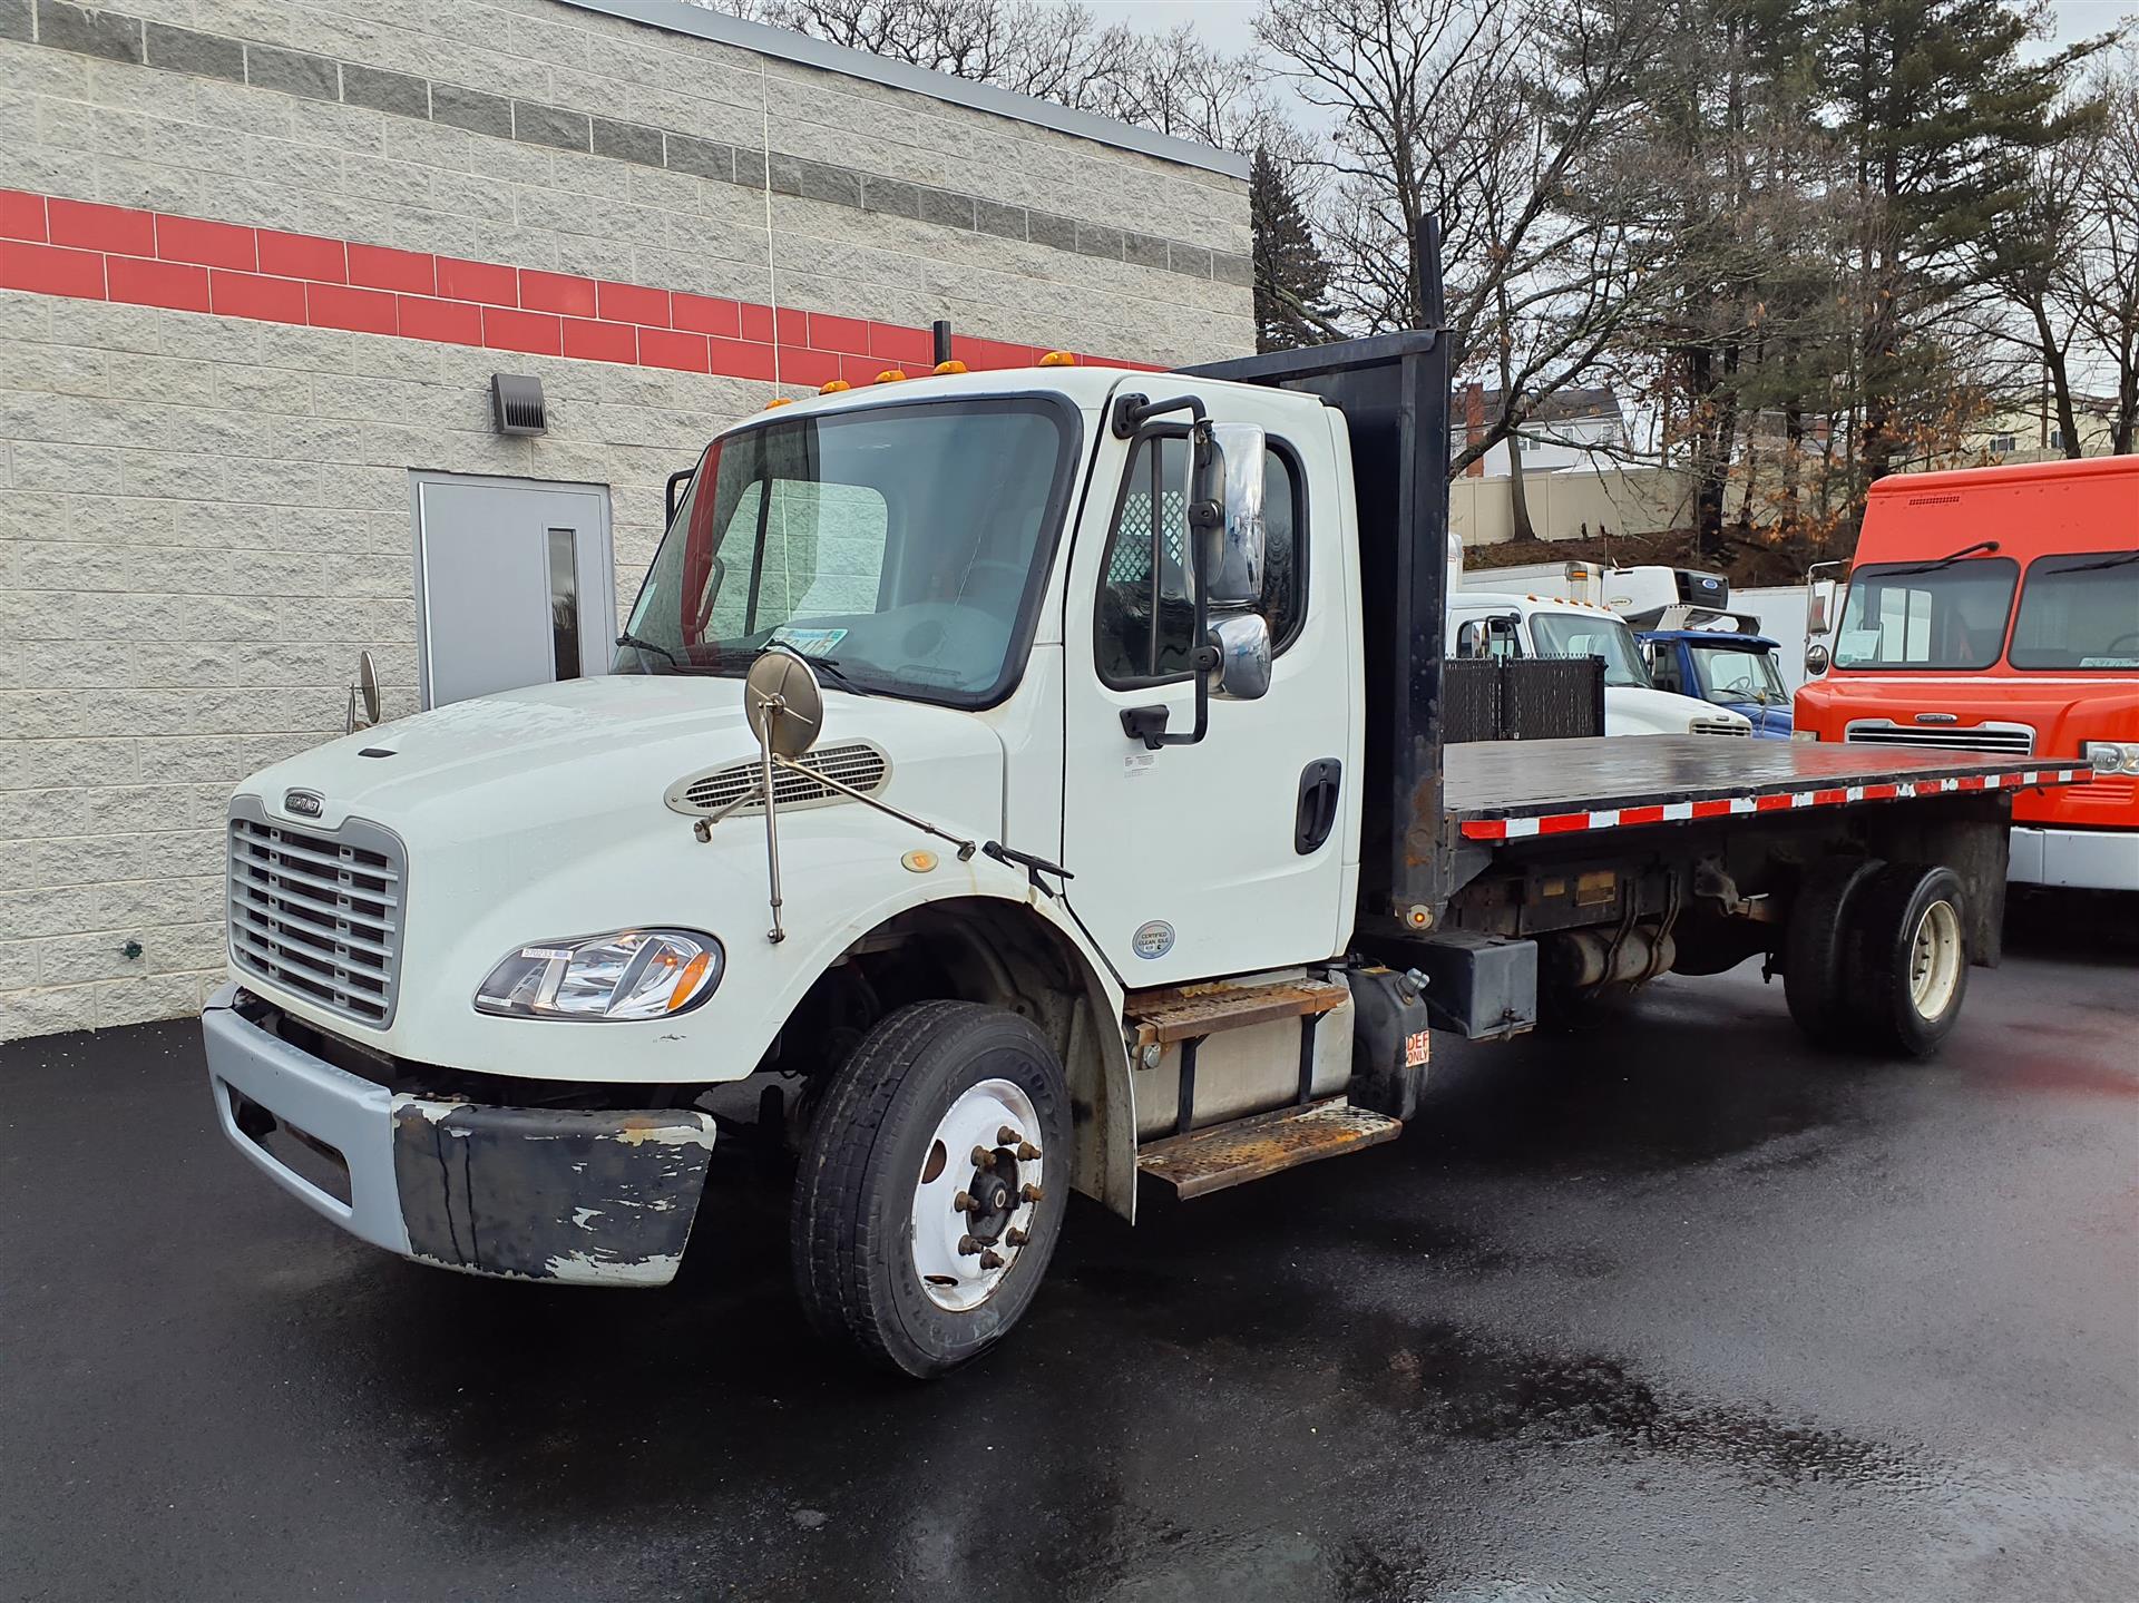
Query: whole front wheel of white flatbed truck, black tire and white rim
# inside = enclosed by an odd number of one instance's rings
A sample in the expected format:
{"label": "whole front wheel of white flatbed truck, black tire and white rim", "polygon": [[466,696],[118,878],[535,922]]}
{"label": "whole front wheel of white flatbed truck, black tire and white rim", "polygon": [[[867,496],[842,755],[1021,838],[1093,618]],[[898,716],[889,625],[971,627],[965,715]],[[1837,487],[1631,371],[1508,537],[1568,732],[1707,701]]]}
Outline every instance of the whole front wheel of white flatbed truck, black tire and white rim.
{"label": "whole front wheel of white flatbed truck, black tire and white rim", "polygon": [[[997,1141],[1005,1124],[1022,1141]],[[1031,1023],[973,1002],[888,1014],[832,1072],[796,1171],[802,1312],[826,1340],[915,1378],[980,1357],[1040,1291],[1070,1149],[1070,1087]]]}

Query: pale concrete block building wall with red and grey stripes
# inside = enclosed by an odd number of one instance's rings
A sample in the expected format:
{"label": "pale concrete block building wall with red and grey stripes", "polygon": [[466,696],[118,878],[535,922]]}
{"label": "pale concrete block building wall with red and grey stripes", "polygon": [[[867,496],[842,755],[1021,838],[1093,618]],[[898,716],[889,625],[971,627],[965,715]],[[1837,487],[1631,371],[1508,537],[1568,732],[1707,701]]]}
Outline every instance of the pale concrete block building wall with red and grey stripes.
{"label": "pale concrete block building wall with red and grey stripes", "polygon": [[629,606],[774,370],[1253,342],[1238,178],[558,0],[0,0],[0,1038],[220,980],[231,785],[413,711],[413,469],[610,486]]}

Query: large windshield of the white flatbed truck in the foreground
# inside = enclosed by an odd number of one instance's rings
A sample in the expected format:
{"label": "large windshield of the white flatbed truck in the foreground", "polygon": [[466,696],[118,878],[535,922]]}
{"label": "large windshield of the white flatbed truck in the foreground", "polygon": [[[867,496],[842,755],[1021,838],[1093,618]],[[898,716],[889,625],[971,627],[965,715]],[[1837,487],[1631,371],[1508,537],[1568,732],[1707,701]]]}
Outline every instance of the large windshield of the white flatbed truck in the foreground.
{"label": "large windshield of the white flatbed truck in the foreground", "polygon": [[712,443],[616,672],[742,674],[772,642],[862,691],[986,706],[1016,678],[1076,456],[1055,402],[886,404]]}

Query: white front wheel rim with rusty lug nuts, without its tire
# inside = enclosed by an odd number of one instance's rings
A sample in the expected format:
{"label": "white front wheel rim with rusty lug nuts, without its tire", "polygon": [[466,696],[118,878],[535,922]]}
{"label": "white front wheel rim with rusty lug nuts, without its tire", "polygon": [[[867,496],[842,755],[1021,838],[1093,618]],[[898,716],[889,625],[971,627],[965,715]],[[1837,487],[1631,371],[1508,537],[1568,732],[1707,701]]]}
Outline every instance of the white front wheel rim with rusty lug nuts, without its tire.
{"label": "white front wheel rim with rusty lug nuts, without its tire", "polygon": [[913,1177],[913,1273],[937,1308],[980,1308],[1016,1265],[1044,1186],[1037,1134],[1014,1081],[969,1085],[937,1119]]}

